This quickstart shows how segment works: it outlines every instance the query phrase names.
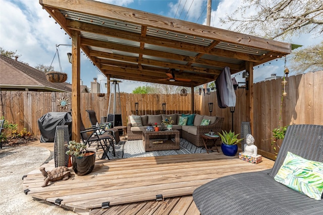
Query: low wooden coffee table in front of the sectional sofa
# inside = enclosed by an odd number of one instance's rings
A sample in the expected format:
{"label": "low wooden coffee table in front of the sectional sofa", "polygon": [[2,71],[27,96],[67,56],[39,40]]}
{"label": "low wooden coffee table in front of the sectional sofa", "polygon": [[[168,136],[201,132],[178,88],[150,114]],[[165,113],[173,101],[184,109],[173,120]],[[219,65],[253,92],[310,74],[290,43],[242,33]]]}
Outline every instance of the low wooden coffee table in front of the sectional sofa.
{"label": "low wooden coffee table in front of the sectional sofa", "polygon": [[[175,142],[172,136],[175,135]],[[161,138],[159,138],[161,137]],[[163,141],[162,143],[153,143]],[[179,130],[167,131],[143,131],[143,146],[145,152],[161,151],[161,150],[179,150],[180,149],[180,132]]]}

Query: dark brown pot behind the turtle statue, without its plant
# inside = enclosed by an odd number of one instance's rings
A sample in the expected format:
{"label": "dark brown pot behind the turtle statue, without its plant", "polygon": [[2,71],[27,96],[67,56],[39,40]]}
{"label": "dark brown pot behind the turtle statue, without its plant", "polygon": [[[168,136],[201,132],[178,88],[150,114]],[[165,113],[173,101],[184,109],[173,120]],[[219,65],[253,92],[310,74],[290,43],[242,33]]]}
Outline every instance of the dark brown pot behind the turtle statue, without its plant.
{"label": "dark brown pot behind the turtle statue, without its plant", "polygon": [[86,151],[83,157],[72,156],[73,170],[76,175],[87,175],[92,172],[95,164],[95,152]]}

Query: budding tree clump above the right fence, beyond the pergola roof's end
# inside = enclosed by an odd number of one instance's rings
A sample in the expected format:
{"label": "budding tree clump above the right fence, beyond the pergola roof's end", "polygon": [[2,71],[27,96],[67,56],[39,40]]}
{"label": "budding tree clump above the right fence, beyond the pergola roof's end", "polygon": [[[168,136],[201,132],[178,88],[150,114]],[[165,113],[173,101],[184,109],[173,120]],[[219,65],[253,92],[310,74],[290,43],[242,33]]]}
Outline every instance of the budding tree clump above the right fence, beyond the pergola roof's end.
{"label": "budding tree clump above the right fence, beyond the pergola roof's end", "polygon": [[323,42],[303,49],[296,49],[288,58],[293,61],[290,69],[295,71],[295,74],[302,74],[308,69],[311,71],[323,69]]}

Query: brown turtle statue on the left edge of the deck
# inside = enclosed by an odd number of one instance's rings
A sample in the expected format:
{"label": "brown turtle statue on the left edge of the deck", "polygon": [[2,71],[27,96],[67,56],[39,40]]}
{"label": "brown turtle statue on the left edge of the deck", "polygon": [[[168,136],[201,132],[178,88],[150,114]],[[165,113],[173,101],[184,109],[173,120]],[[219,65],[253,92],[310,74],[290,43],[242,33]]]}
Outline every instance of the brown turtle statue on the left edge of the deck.
{"label": "brown turtle statue on the left edge of the deck", "polygon": [[51,171],[45,171],[44,167],[41,167],[40,172],[44,176],[44,184],[42,187],[47,186],[49,181],[59,181],[59,180],[67,180],[71,176],[71,171],[67,167],[56,167]]}

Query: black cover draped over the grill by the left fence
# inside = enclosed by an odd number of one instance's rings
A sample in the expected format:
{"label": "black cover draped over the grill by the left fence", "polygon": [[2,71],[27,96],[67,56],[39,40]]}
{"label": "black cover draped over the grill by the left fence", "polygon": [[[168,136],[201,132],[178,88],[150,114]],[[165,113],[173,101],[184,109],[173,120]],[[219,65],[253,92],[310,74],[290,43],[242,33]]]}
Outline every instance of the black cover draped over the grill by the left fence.
{"label": "black cover draped over the grill by the left fence", "polygon": [[40,142],[53,142],[55,139],[56,126],[68,125],[71,139],[72,114],[71,112],[49,112],[38,119],[40,130]]}

